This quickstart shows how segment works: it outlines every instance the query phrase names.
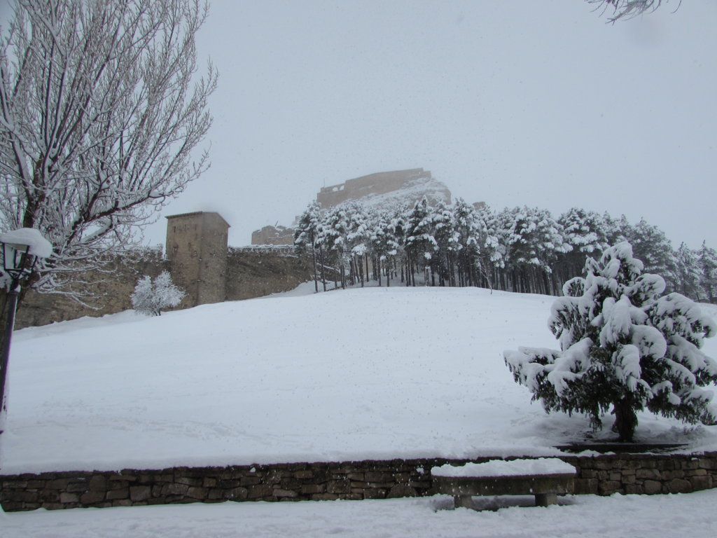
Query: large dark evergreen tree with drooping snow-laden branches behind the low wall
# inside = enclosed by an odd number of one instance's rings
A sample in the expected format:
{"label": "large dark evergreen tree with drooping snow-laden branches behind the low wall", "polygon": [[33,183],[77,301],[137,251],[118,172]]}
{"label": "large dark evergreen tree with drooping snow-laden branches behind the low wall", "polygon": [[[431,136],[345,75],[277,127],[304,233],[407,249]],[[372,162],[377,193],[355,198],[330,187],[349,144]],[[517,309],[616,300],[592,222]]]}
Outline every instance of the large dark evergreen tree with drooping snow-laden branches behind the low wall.
{"label": "large dark evergreen tree with drooping snow-laden branches behind the low wall", "polygon": [[645,408],[688,423],[717,420],[713,394],[701,388],[717,381],[717,362],[701,351],[717,326],[685,296],[663,296],[665,280],[642,268],[628,242],[588,258],[585,278],[566,282],[551,308],[560,351],[503,354],[546,412],[581,412],[599,428],[612,405],[621,440],[632,440]]}

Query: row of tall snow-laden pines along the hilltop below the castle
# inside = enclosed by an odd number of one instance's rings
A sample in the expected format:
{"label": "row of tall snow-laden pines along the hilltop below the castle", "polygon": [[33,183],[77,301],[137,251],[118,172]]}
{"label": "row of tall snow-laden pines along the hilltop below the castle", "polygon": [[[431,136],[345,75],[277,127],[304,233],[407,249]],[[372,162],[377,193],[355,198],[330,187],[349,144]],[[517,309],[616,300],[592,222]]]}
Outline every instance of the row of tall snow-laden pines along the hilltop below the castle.
{"label": "row of tall snow-laden pines along the hilltop below the castle", "polygon": [[315,289],[361,285],[478,286],[561,295],[581,275],[585,258],[599,258],[627,240],[645,272],[662,275],[668,291],[717,302],[717,251],[681,243],[673,249],[660,228],[630,224],[572,208],[555,219],[538,207],[501,211],[484,204],[369,208],[348,202],[320,209],[313,202],[298,219],[298,253],[313,259]]}

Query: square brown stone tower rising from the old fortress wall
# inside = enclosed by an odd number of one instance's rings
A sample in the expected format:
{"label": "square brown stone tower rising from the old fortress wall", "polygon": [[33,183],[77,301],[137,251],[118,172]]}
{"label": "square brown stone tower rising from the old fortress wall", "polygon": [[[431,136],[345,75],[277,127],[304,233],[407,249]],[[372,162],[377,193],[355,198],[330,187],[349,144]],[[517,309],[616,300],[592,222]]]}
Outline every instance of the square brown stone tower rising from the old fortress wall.
{"label": "square brown stone tower rising from the old fortress wall", "polygon": [[228,235],[229,225],[219,213],[167,217],[166,253],[172,280],[186,291],[182,308],[220,303],[227,297]]}

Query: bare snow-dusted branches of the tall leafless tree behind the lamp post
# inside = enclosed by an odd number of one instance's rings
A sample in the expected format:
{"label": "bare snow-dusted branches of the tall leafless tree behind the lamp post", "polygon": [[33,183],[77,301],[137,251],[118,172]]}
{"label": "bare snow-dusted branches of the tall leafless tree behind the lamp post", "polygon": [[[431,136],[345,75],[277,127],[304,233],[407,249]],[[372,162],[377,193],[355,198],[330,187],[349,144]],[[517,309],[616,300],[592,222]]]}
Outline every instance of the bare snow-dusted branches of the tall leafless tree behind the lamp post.
{"label": "bare snow-dusted branches of the tall leafless tree behind the lamp post", "polygon": [[[209,166],[203,0],[14,0],[0,42],[0,230],[54,252],[33,288],[81,298],[78,271],[136,245],[138,225]],[[27,286],[25,287],[27,288]]]}

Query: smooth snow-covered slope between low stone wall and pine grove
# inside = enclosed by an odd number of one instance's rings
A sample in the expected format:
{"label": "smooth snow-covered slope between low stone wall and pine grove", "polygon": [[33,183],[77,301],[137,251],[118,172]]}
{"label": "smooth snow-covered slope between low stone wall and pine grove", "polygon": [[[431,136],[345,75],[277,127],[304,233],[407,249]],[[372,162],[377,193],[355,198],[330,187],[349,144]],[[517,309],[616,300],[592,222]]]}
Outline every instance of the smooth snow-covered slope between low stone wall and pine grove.
{"label": "smooth snow-covered slope between low stone wall and pine grove", "polygon": [[[531,404],[501,354],[556,346],[553,300],[367,288],[17,331],[0,472],[551,456],[588,421]],[[636,437],[717,448],[647,414]]]}

